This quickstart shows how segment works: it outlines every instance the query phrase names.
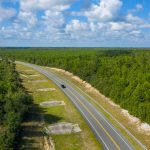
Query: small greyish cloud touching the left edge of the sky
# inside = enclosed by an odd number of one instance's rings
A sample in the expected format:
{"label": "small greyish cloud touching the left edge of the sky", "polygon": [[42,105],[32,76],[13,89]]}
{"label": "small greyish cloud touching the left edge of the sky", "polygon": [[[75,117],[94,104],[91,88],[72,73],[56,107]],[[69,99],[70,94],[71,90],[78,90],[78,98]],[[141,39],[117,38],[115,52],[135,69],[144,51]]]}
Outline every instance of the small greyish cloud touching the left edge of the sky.
{"label": "small greyish cloud touching the left edge of the sky", "polygon": [[14,17],[16,13],[16,10],[13,8],[4,9],[0,6],[0,22]]}

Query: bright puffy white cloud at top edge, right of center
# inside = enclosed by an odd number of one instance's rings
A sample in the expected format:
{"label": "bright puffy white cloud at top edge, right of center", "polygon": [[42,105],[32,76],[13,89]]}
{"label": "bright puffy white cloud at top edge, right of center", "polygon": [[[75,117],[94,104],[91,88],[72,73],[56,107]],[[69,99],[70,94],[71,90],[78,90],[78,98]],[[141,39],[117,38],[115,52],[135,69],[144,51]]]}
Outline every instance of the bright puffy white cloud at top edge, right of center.
{"label": "bright puffy white cloud at top edge, right of center", "polygon": [[117,17],[121,6],[120,0],[101,0],[98,5],[93,4],[84,14],[89,21],[110,21]]}

